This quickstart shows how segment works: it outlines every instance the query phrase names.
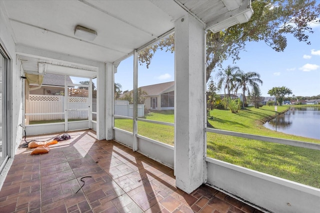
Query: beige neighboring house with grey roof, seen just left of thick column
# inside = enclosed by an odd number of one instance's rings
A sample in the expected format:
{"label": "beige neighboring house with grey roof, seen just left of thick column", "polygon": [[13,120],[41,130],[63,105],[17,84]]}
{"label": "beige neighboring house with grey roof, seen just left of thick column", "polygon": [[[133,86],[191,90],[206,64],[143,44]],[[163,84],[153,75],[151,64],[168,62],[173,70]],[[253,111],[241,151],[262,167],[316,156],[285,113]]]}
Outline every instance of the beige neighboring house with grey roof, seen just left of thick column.
{"label": "beige neighboring house with grey roof, seen just left of thick column", "polygon": [[[174,81],[141,86],[142,91],[146,92],[144,101],[147,110],[170,110],[174,109]],[[132,92],[132,91],[129,91]],[[123,97],[123,94],[119,99]]]}

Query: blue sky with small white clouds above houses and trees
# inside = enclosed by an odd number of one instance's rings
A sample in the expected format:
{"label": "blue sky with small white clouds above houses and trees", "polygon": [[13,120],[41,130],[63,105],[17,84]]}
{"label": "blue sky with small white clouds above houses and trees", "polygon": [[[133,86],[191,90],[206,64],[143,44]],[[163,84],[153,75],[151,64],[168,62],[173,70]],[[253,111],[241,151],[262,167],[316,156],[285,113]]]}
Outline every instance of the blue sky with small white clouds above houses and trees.
{"label": "blue sky with small white clouds above houses and trees", "polygon": [[[297,41],[287,35],[287,47],[283,52],[275,52],[264,42],[247,42],[240,60],[232,64],[228,59],[223,63],[238,66],[244,72],[258,72],[263,81],[260,86],[262,96],[269,96],[272,87],[285,86],[295,96],[314,96],[320,94],[320,24],[312,26],[309,34],[311,45]],[[118,66],[114,79],[120,83],[122,91],[131,90],[133,57],[123,60]],[[211,76],[215,77],[215,72]],[[174,80],[174,53],[157,51],[149,69],[138,66],[138,87]],[[215,80],[217,81],[217,80]],[[220,91],[223,93],[223,91]]]}

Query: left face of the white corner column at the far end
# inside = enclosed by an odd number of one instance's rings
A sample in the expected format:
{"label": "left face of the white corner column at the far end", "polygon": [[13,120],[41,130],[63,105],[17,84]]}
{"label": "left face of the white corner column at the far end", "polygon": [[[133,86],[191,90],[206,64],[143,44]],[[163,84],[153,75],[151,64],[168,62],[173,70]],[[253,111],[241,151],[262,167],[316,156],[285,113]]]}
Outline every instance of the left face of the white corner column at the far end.
{"label": "left face of the white corner column at the far end", "polygon": [[99,63],[96,76],[96,139],[105,139],[105,64]]}

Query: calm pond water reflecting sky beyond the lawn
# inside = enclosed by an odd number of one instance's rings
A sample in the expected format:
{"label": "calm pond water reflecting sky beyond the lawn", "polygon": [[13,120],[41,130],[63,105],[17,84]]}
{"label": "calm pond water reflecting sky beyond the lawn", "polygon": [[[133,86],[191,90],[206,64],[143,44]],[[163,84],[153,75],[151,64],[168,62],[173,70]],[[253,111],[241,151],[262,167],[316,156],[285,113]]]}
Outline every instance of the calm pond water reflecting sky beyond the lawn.
{"label": "calm pond water reflecting sky beyond the lawn", "polygon": [[[266,122],[263,126],[275,131],[275,119]],[[320,139],[320,108],[290,108],[287,112],[277,116],[276,131]]]}

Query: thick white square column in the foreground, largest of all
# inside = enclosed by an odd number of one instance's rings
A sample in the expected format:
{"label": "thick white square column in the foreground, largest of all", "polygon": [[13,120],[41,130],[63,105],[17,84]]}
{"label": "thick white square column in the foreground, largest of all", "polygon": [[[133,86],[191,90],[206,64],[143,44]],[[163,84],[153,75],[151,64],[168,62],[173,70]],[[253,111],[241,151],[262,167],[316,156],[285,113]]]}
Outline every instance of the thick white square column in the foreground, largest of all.
{"label": "thick white square column in the foreground, largest of all", "polygon": [[175,21],[175,184],[191,193],[205,182],[204,29],[187,14]]}

